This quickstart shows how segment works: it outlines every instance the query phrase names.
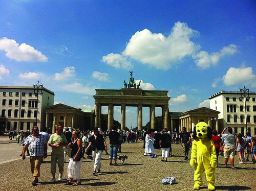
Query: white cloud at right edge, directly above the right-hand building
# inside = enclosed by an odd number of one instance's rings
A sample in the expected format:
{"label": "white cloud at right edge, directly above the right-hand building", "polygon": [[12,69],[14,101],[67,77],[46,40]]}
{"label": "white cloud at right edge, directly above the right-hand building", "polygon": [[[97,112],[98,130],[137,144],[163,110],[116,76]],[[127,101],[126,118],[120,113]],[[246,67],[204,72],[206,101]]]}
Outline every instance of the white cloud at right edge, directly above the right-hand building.
{"label": "white cloud at right edge, directly above the right-hand building", "polygon": [[253,74],[252,67],[230,67],[223,76],[223,82],[226,86],[246,84],[256,87],[256,75]]}

